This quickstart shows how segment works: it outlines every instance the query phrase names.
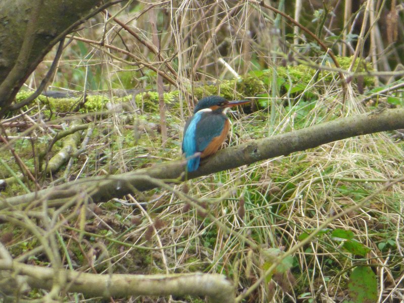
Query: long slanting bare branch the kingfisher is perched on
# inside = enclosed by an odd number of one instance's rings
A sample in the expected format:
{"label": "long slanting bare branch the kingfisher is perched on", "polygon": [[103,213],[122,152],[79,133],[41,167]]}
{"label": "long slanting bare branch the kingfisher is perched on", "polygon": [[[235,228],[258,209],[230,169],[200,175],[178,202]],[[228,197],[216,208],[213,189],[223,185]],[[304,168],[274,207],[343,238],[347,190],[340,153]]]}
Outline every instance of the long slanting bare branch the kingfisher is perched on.
{"label": "long slanting bare branch the kingfisher is perched on", "polygon": [[[385,109],[377,114],[367,113],[356,117],[340,118],[219,150],[214,156],[205,160],[197,171],[188,174],[187,177],[192,179],[273,157],[289,155],[294,151],[313,148],[349,137],[399,128],[404,128],[404,109]],[[158,187],[160,181],[173,182],[175,179],[183,181],[185,179],[184,167],[184,160],[173,161],[120,175],[80,179],[38,192],[0,200],[0,209],[31,203],[43,198],[46,198],[48,203],[59,204],[78,192],[87,193],[94,202],[107,201],[134,190]]]}

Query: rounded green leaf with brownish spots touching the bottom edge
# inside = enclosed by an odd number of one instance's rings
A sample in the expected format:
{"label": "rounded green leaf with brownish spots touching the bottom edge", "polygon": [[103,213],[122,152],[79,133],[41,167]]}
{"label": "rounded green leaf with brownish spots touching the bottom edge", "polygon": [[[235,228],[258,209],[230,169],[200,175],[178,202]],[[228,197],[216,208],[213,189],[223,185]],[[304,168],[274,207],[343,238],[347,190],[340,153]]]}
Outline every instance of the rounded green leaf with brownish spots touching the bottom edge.
{"label": "rounded green leaf with brownish spots touching the bottom edge", "polygon": [[371,268],[356,267],[349,280],[349,296],[354,302],[373,303],[377,301],[377,277]]}

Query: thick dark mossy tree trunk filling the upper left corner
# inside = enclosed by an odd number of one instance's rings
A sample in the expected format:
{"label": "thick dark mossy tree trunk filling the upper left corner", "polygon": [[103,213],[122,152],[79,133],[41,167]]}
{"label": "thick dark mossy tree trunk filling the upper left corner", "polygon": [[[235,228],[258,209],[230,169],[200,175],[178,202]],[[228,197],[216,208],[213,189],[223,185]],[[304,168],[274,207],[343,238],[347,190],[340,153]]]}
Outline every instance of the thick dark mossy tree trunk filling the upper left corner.
{"label": "thick dark mossy tree trunk filling the upper left corner", "polygon": [[83,23],[98,3],[99,0],[0,1],[0,117],[43,57]]}

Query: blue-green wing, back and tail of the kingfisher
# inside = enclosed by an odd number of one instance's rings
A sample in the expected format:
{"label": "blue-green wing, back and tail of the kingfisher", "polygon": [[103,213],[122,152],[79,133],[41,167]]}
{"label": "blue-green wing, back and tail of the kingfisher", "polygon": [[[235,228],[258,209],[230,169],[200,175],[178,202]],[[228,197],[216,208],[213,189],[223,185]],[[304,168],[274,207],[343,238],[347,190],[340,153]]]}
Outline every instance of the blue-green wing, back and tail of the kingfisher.
{"label": "blue-green wing, back and tail of the kingfisher", "polygon": [[[192,157],[195,153],[201,153],[208,147],[214,137],[222,133],[226,117],[222,114],[199,111],[185,124],[182,151],[185,157]],[[196,156],[188,160],[188,172],[197,170],[200,157]]]}

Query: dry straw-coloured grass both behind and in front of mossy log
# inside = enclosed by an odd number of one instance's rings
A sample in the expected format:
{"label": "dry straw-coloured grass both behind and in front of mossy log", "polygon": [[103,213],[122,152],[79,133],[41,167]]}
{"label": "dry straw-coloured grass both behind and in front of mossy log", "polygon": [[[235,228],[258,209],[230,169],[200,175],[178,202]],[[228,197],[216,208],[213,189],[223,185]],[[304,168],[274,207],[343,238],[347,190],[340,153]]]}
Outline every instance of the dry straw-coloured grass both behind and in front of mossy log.
{"label": "dry straw-coloured grass both behind and in front of mossy log", "polygon": [[[366,1],[362,8],[368,3],[373,2]],[[384,2],[383,6],[380,12],[390,10]],[[148,9],[155,10],[158,17],[161,44],[158,54],[146,46],[154,45]],[[290,8],[286,8],[288,10]],[[125,172],[178,158],[180,133],[192,108],[189,92],[199,81],[213,81],[219,87],[217,79],[253,70],[276,70],[288,54],[307,62],[323,54],[305,42],[303,35],[298,39],[300,44],[293,45],[292,38],[285,38],[286,33],[291,32],[290,24],[255,2],[136,2],[119,13],[118,8],[114,8],[112,14],[115,13],[139,38],[125,32],[112,19],[106,22],[102,15],[95,17],[85,29],[75,33],[94,43],[84,43],[72,36],[51,87],[106,89],[114,103],[113,88],[154,89],[156,71],[153,69],[159,70],[166,83],[168,78],[174,79],[180,91],[176,104],[170,105],[167,112],[168,141],[162,148],[156,109],[145,106],[125,113],[96,116],[87,153],[72,164],[69,179]],[[335,13],[339,14],[337,17],[343,16],[340,10]],[[358,26],[361,18],[351,16],[346,22],[356,22]],[[307,22],[308,27],[316,24]],[[383,43],[381,50],[372,53],[374,43],[383,41],[377,31],[383,24],[385,19],[370,31],[364,29],[364,35],[373,35],[375,40],[370,48],[361,49],[364,52],[371,49],[369,56],[372,59],[376,56],[374,67],[379,70],[381,66],[386,67],[384,53],[393,53]],[[325,26],[321,39],[327,39],[324,36],[327,32],[341,33],[338,18],[327,17]],[[361,26],[352,31],[360,29]],[[100,46],[101,39],[115,48]],[[402,36],[399,39],[402,43]],[[397,45],[401,45],[399,43]],[[333,50],[342,52],[342,45],[337,42]],[[394,50],[389,59],[398,61],[399,49]],[[364,52],[358,55],[366,57]],[[51,64],[51,58],[52,54],[31,76],[27,82],[30,88],[37,85],[46,71],[44,66]],[[287,63],[293,65],[293,62]],[[387,66],[389,70],[395,69],[395,66]],[[331,82],[323,74],[310,81],[302,80],[305,91],[314,93],[312,107],[307,94],[277,91],[276,77],[275,82],[265,83],[262,93],[267,95],[271,108],[238,114],[238,119],[232,119],[228,144],[368,111],[361,102],[363,96],[358,93],[357,84],[347,85],[343,99],[338,74],[332,74]],[[378,80],[386,82],[392,78]],[[171,84],[169,89],[176,88]],[[236,93],[234,91],[234,95]],[[125,128],[128,120],[137,121],[136,131]],[[39,138],[49,136],[46,129],[35,132]],[[7,241],[8,249],[13,257],[21,260],[28,257],[40,240],[43,245],[49,244],[51,251],[46,252],[46,257],[40,251],[31,254],[33,261],[30,262],[35,264],[44,265],[51,261],[49,256],[53,256],[57,264],[97,273],[223,273],[235,281],[237,294],[242,294],[252,291],[249,287],[262,277],[265,265],[274,263],[268,257],[268,249],[277,248],[276,254],[282,256],[298,245],[305,231],[319,228],[335,214],[371,197],[357,210],[327,225],[330,230],[352,231],[355,240],[370,248],[365,257],[351,254],[342,247],[344,241],[331,238],[330,233],[321,234],[292,255],[290,267],[284,272],[278,270],[270,282],[261,283],[245,301],[341,302],[348,297],[347,283],[352,268],[368,264],[378,276],[378,301],[398,302],[404,293],[404,186],[397,183],[379,190],[402,176],[403,160],[402,142],[394,142],[387,133],[349,138],[304,153],[201,177],[185,185],[172,185],[172,190],[135,192],[88,211],[81,205],[89,201],[78,198],[71,201],[75,213],[71,209],[61,211],[54,218],[55,222],[44,225],[35,225],[36,219],[24,211],[17,215],[3,214],[19,220],[25,218],[32,224],[16,229],[3,223],[4,231],[0,235],[13,234]],[[45,184],[51,181],[46,180]],[[15,192],[10,190],[8,194]],[[64,218],[69,220],[63,223]],[[52,235],[47,232],[49,228]],[[31,241],[34,241],[32,247],[27,244]],[[31,292],[30,297],[43,295],[37,291]],[[84,299],[70,294],[68,300]],[[172,297],[167,300],[177,301]],[[147,299],[131,298],[131,301]],[[199,300],[186,298],[186,301]]]}

